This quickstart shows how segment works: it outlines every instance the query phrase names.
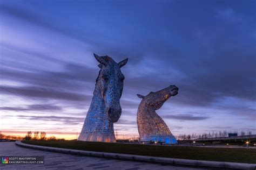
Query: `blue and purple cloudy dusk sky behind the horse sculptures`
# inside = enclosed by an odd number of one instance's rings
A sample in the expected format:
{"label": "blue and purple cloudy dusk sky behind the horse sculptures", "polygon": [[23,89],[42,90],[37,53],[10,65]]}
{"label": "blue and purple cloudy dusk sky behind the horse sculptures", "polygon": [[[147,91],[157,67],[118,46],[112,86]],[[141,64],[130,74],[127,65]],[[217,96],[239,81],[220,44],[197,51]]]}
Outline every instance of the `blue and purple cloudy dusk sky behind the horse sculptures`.
{"label": "blue and purple cloudy dusk sky behind the horse sculptures", "polygon": [[0,131],[74,139],[99,68],[129,58],[118,138],[138,136],[147,95],[175,84],[157,110],[174,136],[256,133],[255,1],[0,1]]}

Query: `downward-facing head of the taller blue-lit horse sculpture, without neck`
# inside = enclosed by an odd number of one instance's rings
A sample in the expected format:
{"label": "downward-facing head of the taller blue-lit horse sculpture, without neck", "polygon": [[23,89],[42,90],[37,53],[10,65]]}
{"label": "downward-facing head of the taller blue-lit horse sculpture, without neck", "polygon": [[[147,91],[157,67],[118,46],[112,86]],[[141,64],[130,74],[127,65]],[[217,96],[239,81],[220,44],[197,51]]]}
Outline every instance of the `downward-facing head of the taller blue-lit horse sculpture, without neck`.
{"label": "downward-facing head of the taller blue-lit horse sculpture, without neck", "polygon": [[105,112],[109,121],[115,123],[121,116],[122,108],[120,107],[120,97],[123,93],[124,75],[121,72],[128,59],[115,62],[110,56],[98,56],[94,54],[96,60],[100,63],[99,76],[96,80],[97,86],[100,87],[100,93],[105,102]]}

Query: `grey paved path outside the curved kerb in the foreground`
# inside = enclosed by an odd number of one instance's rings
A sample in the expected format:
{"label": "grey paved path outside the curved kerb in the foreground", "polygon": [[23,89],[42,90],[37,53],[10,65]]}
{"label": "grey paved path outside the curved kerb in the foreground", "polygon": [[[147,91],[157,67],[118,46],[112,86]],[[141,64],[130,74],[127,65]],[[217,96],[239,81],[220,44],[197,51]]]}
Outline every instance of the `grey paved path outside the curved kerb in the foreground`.
{"label": "grey paved path outside the curved kerb in the foreground", "polygon": [[44,156],[45,164],[4,165],[0,162],[0,169],[198,169],[190,167],[149,164],[145,162],[84,157],[79,155],[39,151],[30,148],[19,147],[15,145],[14,142],[0,142],[0,157],[1,156]]}

